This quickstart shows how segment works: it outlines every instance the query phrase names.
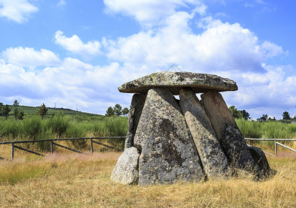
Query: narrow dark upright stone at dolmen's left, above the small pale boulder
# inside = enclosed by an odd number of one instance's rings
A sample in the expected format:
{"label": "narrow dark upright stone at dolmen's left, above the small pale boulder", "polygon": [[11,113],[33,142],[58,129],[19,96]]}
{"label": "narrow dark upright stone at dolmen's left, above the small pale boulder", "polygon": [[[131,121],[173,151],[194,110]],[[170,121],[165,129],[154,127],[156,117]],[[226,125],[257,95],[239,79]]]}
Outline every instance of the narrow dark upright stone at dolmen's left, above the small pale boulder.
{"label": "narrow dark upright stone at dolmen's left, above the small pale boulder", "polygon": [[129,108],[129,129],[126,134],[124,148],[133,146],[133,137],[135,137],[135,130],[137,130],[140,116],[145,103],[146,94],[134,94],[131,99],[131,107]]}

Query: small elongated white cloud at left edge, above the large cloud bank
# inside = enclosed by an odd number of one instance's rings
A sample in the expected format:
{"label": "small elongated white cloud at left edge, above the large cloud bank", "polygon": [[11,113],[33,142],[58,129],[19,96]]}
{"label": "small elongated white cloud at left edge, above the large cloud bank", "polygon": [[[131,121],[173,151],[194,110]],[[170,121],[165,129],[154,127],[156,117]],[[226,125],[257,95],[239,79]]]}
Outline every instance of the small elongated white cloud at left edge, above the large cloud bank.
{"label": "small elongated white cloud at left edge, above the large cloud bank", "polygon": [[47,50],[35,51],[33,48],[9,48],[3,51],[6,62],[20,67],[56,66],[60,64],[58,55]]}

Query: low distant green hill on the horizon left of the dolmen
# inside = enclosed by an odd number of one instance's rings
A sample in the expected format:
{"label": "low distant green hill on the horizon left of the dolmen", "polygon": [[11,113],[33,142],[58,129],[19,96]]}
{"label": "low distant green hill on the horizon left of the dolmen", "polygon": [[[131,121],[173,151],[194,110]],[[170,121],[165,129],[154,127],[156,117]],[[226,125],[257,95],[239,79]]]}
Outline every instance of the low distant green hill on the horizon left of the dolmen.
{"label": "low distant green hill on the horizon left of the dolmen", "polygon": [[[9,105],[11,107],[10,114],[13,114],[14,107],[13,105]],[[25,106],[25,105],[19,105],[17,109],[19,111],[24,111],[25,116],[31,116],[31,115],[37,115],[37,112],[39,110],[40,106],[33,107],[33,106]],[[47,115],[54,115],[54,114],[64,114],[64,115],[85,115],[85,116],[103,116],[100,114],[91,114],[88,112],[80,112],[76,110],[72,110],[69,108],[63,108],[63,107],[47,107]]]}

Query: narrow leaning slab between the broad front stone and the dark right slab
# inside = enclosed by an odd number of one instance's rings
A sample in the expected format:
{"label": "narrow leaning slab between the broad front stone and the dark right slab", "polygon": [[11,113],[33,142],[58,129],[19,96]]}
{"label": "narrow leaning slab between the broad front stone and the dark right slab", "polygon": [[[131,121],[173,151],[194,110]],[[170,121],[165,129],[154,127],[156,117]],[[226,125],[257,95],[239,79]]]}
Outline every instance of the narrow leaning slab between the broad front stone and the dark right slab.
{"label": "narrow leaning slab between the broad front stone and the dark right slab", "polygon": [[208,177],[227,177],[230,173],[229,161],[217,140],[210,119],[192,89],[181,89],[180,106],[204,172]]}

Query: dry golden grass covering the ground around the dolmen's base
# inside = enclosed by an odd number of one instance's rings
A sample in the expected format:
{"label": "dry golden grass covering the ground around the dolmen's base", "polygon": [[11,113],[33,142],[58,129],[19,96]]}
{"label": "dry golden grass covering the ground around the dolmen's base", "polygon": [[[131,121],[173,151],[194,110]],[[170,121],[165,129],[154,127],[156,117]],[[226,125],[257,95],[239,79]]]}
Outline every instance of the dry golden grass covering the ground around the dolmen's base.
{"label": "dry golden grass covering the ground around the dolmen's base", "polygon": [[0,207],[296,207],[295,154],[268,157],[278,173],[263,182],[239,178],[147,187],[110,180],[120,154],[0,161]]}

